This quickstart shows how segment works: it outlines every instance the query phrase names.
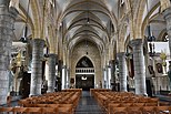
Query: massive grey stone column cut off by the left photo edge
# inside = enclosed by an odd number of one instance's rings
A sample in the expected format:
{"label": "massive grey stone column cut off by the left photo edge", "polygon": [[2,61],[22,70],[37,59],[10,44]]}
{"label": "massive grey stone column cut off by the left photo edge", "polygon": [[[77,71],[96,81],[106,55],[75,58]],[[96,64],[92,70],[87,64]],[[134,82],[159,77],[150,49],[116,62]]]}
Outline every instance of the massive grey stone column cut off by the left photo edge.
{"label": "massive grey stone column cut off by the left photo edge", "polygon": [[7,103],[13,25],[19,13],[14,8],[9,8],[9,1],[0,0],[0,105]]}

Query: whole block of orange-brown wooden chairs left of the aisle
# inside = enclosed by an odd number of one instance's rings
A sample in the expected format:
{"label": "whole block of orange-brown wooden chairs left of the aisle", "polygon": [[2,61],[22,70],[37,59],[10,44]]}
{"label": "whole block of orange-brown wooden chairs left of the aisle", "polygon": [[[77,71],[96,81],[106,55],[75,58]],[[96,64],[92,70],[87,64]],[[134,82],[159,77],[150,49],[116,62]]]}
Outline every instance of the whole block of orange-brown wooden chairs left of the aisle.
{"label": "whole block of orange-brown wooden chairs left of the aisle", "polygon": [[0,107],[0,114],[73,114],[81,93],[80,90],[67,90],[27,97],[18,102],[18,107]]}

